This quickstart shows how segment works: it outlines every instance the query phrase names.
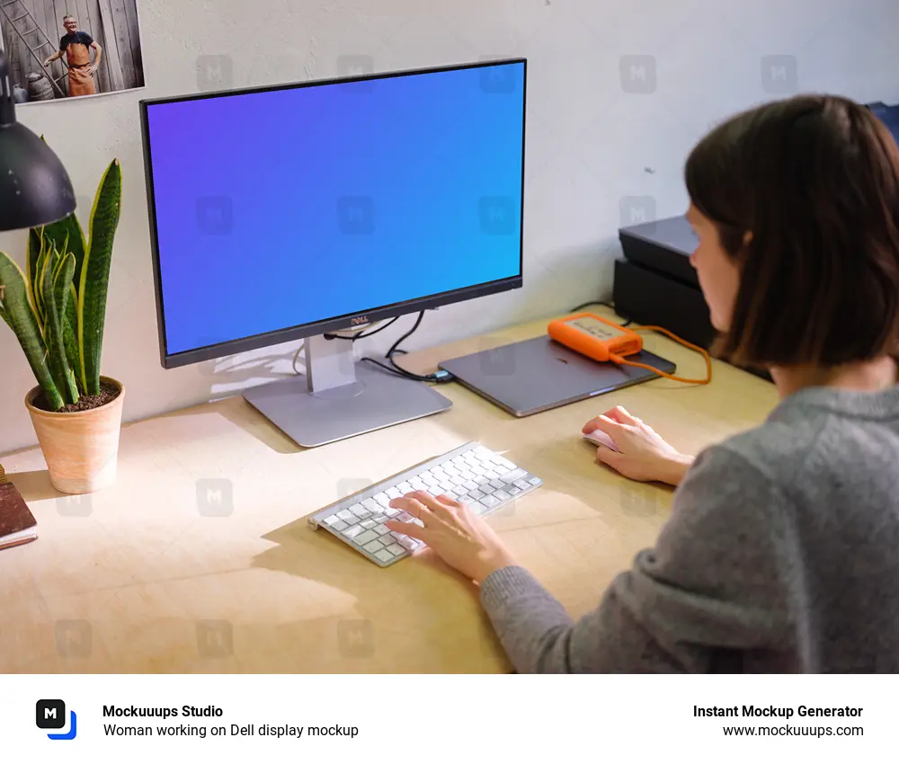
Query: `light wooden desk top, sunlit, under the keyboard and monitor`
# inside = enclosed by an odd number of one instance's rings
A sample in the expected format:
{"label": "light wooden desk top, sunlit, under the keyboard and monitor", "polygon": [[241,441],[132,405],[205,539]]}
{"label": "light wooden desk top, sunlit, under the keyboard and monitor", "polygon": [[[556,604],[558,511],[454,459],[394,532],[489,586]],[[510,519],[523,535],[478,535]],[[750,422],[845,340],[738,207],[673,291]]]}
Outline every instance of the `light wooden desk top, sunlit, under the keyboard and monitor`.
{"label": "light wooden desk top, sunlit, under the keyboard and monitor", "polygon": [[[405,363],[433,369],[546,325]],[[702,375],[698,354],[655,335],[646,347]],[[770,383],[717,361],[708,386],[657,379],[525,419],[440,389],[448,412],[320,449],[298,448],[240,395],[129,423],[117,483],[89,496],[57,493],[39,449],[4,457],[40,538],[0,552],[0,672],[509,671],[472,585],[431,555],[380,569],[307,515],[480,440],[544,479],[490,522],[578,617],[654,543],[672,500],[597,465],[583,423],[622,404],[696,453],[777,403]]]}

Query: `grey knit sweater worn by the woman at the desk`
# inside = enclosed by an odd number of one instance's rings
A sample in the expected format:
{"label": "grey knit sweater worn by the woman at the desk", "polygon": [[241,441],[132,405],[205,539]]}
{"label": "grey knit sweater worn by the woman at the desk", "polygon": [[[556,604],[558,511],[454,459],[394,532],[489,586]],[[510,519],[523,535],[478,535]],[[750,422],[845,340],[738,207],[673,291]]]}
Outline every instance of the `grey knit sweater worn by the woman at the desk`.
{"label": "grey knit sweater worn by the woman at the desk", "polygon": [[519,567],[480,597],[521,672],[899,672],[899,386],[805,388],[702,451],[576,623]]}

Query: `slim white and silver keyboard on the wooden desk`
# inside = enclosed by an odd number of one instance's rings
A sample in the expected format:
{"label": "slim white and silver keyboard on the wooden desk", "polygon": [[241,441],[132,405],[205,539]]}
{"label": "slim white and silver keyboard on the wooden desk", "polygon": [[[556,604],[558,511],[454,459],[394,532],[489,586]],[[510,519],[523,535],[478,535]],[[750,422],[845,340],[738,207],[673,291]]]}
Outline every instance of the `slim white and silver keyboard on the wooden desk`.
{"label": "slim white and silver keyboard on the wooden desk", "polygon": [[371,562],[387,567],[412,555],[423,542],[388,530],[385,520],[421,520],[392,509],[390,502],[413,491],[441,493],[483,515],[503,508],[543,481],[480,443],[470,442],[387,480],[347,496],[309,518],[315,529],[330,531]]}

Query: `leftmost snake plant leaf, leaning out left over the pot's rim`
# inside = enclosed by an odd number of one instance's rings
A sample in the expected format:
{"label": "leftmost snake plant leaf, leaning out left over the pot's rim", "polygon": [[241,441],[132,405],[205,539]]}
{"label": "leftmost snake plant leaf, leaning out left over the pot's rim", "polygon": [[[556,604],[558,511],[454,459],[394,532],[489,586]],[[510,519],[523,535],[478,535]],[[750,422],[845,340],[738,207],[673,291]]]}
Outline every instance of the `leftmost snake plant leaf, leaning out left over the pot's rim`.
{"label": "leftmost snake plant leaf, leaning out left over the pot's rim", "polygon": [[5,253],[0,253],[0,292],[3,293],[4,320],[22,345],[25,358],[50,410],[58,411],[65,403],[50,374],[47,348],[41,339],[38,318],[28,301],[25,274]]}

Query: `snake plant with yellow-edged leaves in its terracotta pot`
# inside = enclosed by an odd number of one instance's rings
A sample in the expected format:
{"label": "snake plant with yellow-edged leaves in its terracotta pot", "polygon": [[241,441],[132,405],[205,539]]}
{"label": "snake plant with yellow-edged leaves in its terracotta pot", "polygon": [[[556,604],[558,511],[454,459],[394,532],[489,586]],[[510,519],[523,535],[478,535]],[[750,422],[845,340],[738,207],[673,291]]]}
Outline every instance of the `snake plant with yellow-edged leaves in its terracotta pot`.
{"label": "snake plant with yellow-edged leaves in its terracotta pot", "polygon": [[0,318],[13,330],[38,385],[25,407],[63,493],[115,480],[125,387],[100,375],[121,167],[113,160],[93,200],[90,226],[75,214],[28,235],[26,270],[0,252]]}

